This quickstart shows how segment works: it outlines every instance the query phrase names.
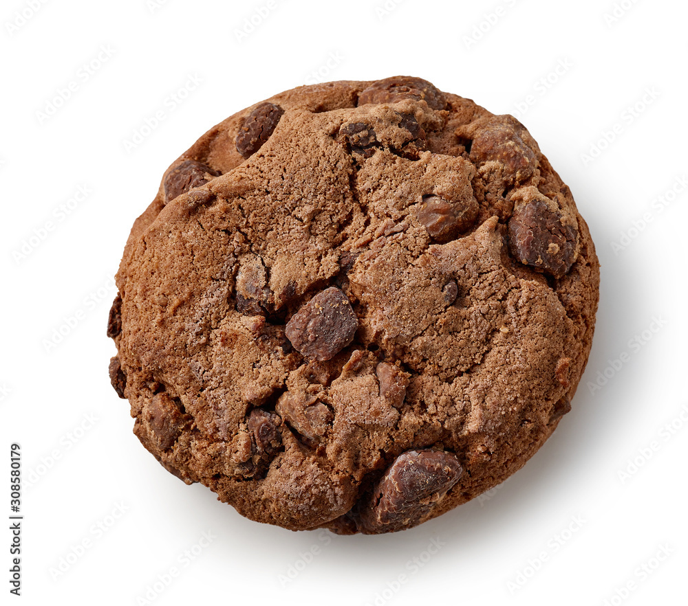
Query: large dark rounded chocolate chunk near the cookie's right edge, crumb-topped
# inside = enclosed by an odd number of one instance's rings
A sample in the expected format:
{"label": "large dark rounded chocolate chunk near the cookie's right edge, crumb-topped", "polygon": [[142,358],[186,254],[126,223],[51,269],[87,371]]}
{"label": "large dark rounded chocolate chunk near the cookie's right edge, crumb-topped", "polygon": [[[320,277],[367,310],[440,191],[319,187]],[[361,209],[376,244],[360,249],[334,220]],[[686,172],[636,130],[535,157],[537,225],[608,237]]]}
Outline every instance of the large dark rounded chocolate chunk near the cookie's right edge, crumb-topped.
{"label": "large dark rounded chocolate chunk near the cookie's right edge, crumb-topped", "polygon": [[576,257],[578,230],[564,225],[559,212],[542,200],[517,207],[510,218],[508,240],[511,254],[524,265],[541,269],[555,278],[568,273]]}

